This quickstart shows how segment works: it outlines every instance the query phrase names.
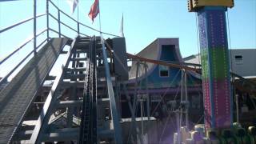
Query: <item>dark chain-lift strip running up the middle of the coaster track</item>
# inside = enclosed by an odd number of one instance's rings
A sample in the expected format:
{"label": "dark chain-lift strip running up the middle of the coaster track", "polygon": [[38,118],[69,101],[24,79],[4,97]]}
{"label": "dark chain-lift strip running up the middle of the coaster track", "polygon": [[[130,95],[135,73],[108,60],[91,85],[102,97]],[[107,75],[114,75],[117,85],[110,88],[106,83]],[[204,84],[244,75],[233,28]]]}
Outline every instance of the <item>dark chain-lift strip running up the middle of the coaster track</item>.
{"label": "dark chain-lift strip running up the middle of the coaster track", "polygon": [[79,143],[97,143],[97,72],[96,39],[90,38],[89,60],[87,61],[86,82],[84,86],[82,122]]}

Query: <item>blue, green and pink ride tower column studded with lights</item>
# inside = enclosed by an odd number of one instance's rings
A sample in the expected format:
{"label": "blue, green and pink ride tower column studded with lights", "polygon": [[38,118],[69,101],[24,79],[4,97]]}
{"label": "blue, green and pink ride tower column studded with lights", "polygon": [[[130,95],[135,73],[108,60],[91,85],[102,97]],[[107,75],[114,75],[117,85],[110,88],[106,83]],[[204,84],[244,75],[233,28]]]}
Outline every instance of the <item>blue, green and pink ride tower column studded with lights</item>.
{"label": "blue, green and pink ride tower column studded with lights", "polygon": [[225,11],[222,6],[198,10],[206,128],[230,127],[233,118]]}

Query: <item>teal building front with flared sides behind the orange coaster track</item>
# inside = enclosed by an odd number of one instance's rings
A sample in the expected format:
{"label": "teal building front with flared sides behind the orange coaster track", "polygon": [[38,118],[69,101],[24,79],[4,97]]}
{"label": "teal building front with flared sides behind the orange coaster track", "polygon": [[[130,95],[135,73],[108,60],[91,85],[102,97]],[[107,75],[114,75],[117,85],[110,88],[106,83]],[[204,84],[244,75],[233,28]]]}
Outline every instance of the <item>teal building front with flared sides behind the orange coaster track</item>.
{"label": "teal building front with flared sides behind the orange coaster track", "polygon": [[[139,52],[137,56],[149,58],[163,62],[183,62],[179,51],[178,38],[158,38]],[[181,86],[182,72],[178,68],[166,67],[146,63],[148,72],[145,74],[142,65],[138,67],[138,80],[142,82],[142,87],[145,86],[147,78],[147,86],[153,89],[173,87],[178,90]],[[165,67],[168,70],[168,76],[161,76],[160,70]],[[133,62],[130,70],[130,82],[134,82],[136,78],[137,64]],[[188,86],[201,86],[200,80],[195,76],[195,73],[188,73]]]}

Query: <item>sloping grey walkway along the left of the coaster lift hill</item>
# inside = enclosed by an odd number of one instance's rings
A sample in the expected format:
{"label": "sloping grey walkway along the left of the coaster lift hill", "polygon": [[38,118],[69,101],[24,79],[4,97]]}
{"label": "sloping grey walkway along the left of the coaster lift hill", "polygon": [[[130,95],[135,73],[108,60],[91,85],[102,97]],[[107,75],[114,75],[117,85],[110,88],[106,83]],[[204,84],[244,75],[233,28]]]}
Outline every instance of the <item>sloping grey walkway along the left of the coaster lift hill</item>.
{"label": "sloping grey walkway along the left of the coaster lift hill", "polygon": [[0,92],[0,143],[8,143],[38,88],[66,45],[67,38],[52,38]]}

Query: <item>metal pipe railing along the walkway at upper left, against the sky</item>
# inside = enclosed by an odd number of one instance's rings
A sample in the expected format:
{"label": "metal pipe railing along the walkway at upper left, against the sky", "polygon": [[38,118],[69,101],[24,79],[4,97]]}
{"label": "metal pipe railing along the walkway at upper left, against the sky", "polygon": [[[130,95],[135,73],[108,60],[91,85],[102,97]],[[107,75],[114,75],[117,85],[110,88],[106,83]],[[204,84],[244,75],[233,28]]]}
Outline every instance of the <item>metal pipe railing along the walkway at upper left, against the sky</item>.
{"label": "metal pipe railing along the walkway at upper left, against the sky", "polygon": [[[58,18],[54,17],[53,14],[50,13],[50,10],[49,10],[49,6],[53,6],[56,10],[58,10]],[[69,26],[68,24],[64,23],[61,21],[61,14],[64,14],[67,18],[70,18],[73,22],[76,22],[77,23],[77,27],[74,28],[74,27],[71,27]],[[46,29],[40,31],[38,34],[37,34],[37,19],[38,18],[42,18],[46,16]],[[50,18],[53,18],[54,21],[58,22],[58,30],[54,30],[53,28],[50,27]],[[0,60],[0,66],[6,62],[9,58],[11,58],[14,54],[16,54],[19,50],[22,50],[22,48],[24,46],[26,46],[28,43],[30,42],[34,42],[34,47],[33,47],[33,50],[30,51],[29,54],[27,54],[25,56],[25,58],[23,58],[21,60],[21,62],[18,62],[18,64],[16,66],[14,66],[14,68],[12,70],[10,70],[10,72],[8,74],[6,74],[4,76],[4,78],[2,78],[0,80],[0,86],[2,85],[3,82],[6,82],[7,81],[7,78],[10,77],[11,74],[14,73],[15,70],[18,69],[19,66],[22,65],[23,62],[26,61],[27,58],[30,57],[31,54],[34,53],[37,54],[37,50],[38,48],[40,48],[45,42],[48,42],[50,40],[50,31],[51,32],[54,32],[56,34],[58,34],[58,37],[61,38],[61,37],[65,37],[65,38],[69,38],[67,35],[65,34],[62,34],[62,26],[66,26],[69,30],[73,30],[74,32],[76,32],[78,35],[82,35],[82,36],[89,36],[87,34],[83,34],[81,31],[80,31],[80,26],[83,26],[83,27],[86,27],[90,30],[94,30],[94,31],[97,31],[97,32],[100,32],[100,30],[96,30],[90,26],[86,26],[85,24],[81,23],[81,22],[78,22],[77,20],[75,20],[74,18],[70,17],[69,14],[66,14],[64,11],[60,10],[58,8],[58,6],[56,6],[54,4],[54,2],[52,2],[51,0],[46,0],[46,13],[45,14],[38,14],[37,15],[37,0],[34,0],[34,16],[32,18],[27,18],[25,20],[22,20],[21,22],[17,22],[15,23],[14,25],[11,25],[11,26],[7,26],[6,28],[3,28],[2,30],[0,30],[0,34],[8,31],[8,30],[11,30],[13,29],[14,27],[17,27],[17,26],[21,26],[22,24],[25,24],[27,22],[30,22],[32,21],[34,22],[34,26],[33,26],[33,32],[34,32],[34,36],[33,38],[29,38],[26,42],[23,42],[22,45],[18,46],[18,48],[16,48],[14,51],[12,51],[10,54],[8,54],[6,57],[2,58]],[[37,38],[38,36],[44,34],[44,33],[47,33],[47,37],[46,39],[42,40],[42,42],[37,46]],[[114,37],[119,37],[118,35],[115,35],[115,34],[109,34],[109,33],[105,33],[105,32],[102,32],[102,34],[107,34],[107,35],[110,35],[110,36],[114,36]]]}

